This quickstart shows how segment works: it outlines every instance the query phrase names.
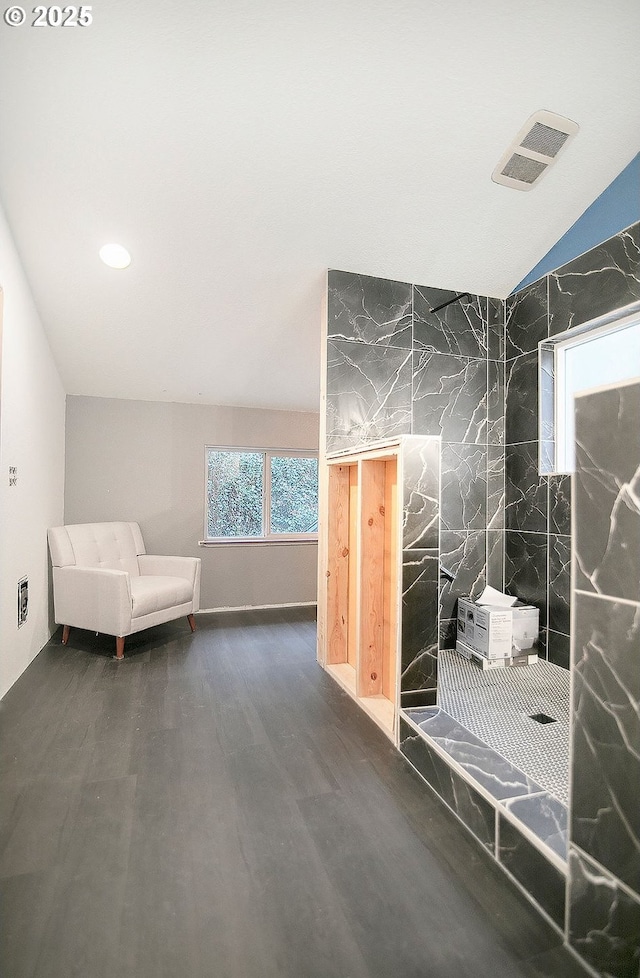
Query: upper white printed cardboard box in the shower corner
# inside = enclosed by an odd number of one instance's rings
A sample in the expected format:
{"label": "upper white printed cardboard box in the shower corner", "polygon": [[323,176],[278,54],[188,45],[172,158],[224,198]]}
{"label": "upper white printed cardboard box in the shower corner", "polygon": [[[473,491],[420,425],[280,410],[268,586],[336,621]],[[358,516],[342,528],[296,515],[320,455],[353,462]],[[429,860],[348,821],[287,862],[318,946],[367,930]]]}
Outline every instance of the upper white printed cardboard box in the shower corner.
{"label": "upper white printed cardboard box in the shower corner", "polygon": [[539,610],[532,605],[497,608],[458,598],[457,637],[487,659],[506,659],[533,648],[539,617]]}

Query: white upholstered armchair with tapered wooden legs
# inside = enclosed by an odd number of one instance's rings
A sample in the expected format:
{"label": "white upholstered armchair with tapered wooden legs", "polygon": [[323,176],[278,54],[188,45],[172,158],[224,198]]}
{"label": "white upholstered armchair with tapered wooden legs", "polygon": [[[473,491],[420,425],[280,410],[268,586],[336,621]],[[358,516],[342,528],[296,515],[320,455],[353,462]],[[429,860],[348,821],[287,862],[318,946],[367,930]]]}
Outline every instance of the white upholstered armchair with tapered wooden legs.
{"label": "white upholstered armchair with tapered wooden legs", "polygon": [[66,645],[72,627],[116,637],[185,615],[194,632],[200,558],[145,552],[137,523],[75,523],[48,532],[55,620]]}

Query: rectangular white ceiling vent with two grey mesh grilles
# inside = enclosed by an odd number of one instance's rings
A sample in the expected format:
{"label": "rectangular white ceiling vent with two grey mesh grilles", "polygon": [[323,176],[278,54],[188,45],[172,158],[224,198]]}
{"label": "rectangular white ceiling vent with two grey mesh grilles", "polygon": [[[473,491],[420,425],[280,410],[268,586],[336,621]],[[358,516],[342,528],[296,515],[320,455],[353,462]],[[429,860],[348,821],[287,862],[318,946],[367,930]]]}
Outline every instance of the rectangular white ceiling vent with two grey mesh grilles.
{"label": "rectangular white ceiling vent with two grey mesh grilles", "polygon": [[495,183],[514,190],[531,190],[555,163],[580,127],[553,112],[534,112],[491,174]]}

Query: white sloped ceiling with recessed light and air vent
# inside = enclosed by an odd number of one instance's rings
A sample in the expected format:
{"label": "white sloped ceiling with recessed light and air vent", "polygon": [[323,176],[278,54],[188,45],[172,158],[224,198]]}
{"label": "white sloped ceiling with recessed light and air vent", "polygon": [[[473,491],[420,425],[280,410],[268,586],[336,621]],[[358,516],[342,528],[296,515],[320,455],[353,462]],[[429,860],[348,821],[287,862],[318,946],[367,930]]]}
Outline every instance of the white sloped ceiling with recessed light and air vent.
{"label": "white sloped ceiling with recessed light and air vent", "polygon": [[[505,296],[640,149],[638,0],[92,12],[0,23],[0,195],[72,394],[317,410],[328,267]],[[492,183],[537,109],[580,132]]]}

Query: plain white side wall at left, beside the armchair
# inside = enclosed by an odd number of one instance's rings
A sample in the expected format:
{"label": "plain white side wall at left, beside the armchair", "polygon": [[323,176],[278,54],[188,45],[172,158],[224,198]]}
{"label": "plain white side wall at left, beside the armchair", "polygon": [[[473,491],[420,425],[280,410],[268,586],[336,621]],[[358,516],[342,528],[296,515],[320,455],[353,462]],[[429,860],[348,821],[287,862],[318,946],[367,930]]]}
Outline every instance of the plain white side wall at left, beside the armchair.
{"label": "plain white side wall at left, beside the armchair", "polygon": [[[62,522],[65,395],[6,219],[0,210],[0,696],[55,630],[47,527]],[[9,486],[9,466],[18,483]],[[17,583],[29,614],[17,625]]]}

